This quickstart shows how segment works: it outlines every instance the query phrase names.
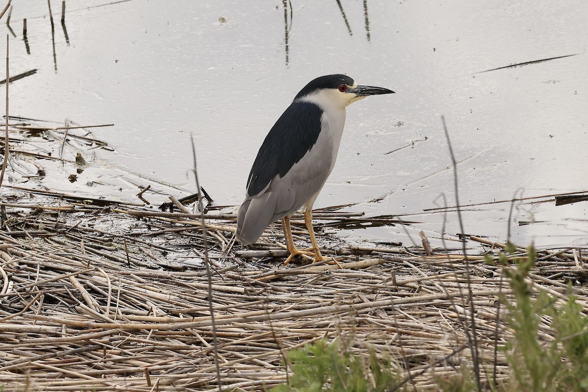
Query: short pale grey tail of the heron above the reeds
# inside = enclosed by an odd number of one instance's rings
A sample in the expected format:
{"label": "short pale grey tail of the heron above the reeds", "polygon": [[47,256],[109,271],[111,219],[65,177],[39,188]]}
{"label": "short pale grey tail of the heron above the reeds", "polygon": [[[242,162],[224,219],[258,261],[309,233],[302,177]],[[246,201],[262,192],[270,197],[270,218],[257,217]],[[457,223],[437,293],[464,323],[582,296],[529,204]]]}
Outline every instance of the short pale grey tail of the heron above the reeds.
{"label": "short pale grey tail of the heron above the reeds", "polygon": [[245,200],[237,213],[237,240],[244,245],[256,242],[263,230],[273,222],[275,205],[276,200],[271,192]]}

